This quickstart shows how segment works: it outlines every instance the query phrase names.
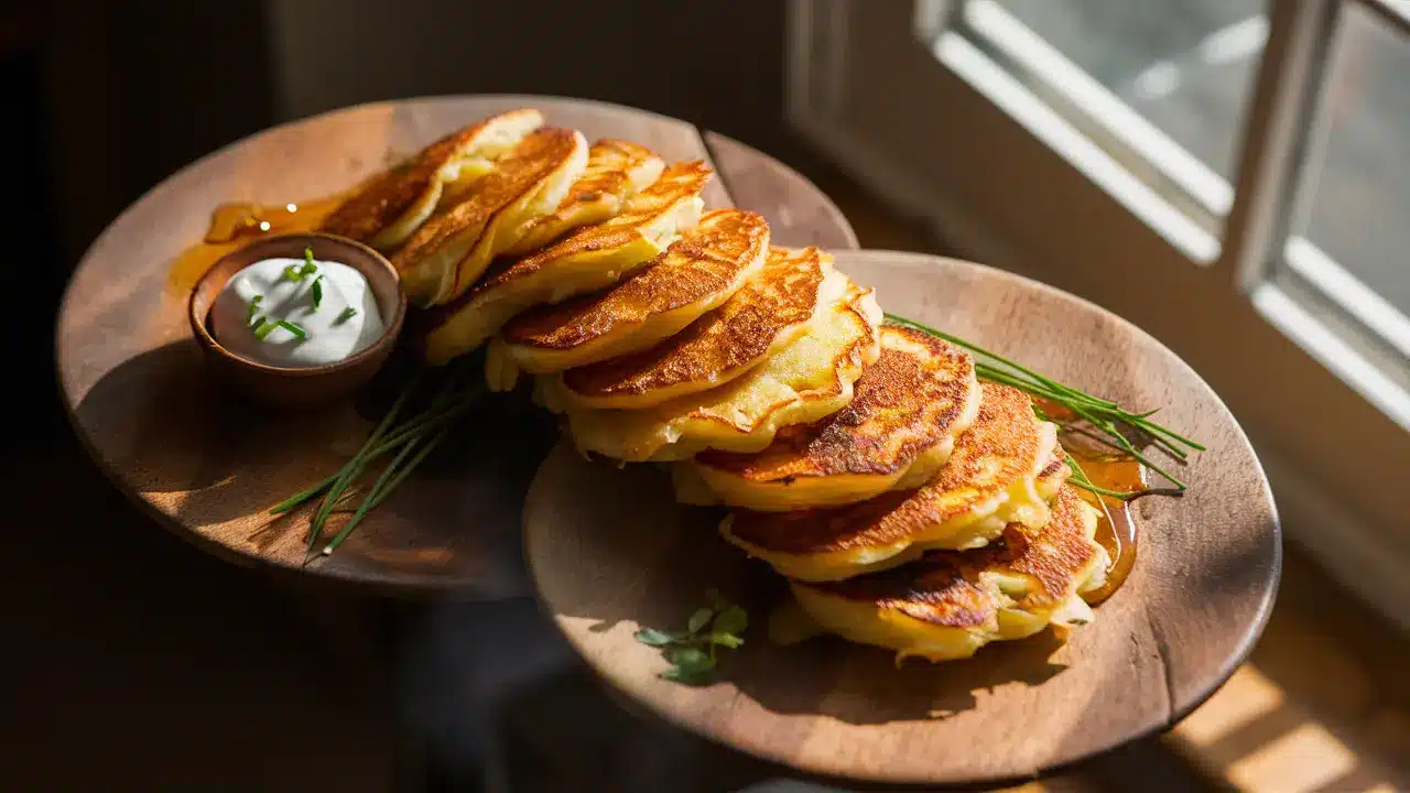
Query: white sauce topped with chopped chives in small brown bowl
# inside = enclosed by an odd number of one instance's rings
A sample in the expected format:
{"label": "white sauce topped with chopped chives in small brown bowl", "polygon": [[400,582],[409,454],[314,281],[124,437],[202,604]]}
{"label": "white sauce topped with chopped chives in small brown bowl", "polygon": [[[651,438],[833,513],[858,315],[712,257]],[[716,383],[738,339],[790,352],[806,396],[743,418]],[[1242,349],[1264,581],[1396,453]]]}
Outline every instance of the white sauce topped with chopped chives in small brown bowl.
{"label": "white sauce topped with chopped chives in small brown bowl", "polygon": [[[266,258],[237,272],[210,309],[216,340],[243,358],[274,367],[333,364],[371,347],[385,326],[367,278],[345,264],[317,260],[312,272],[288,275],[290,268],[310,270],[306,265],[302,258]],[[272,325],[279,320],[293,323],[307,337]],[[257,334],[262,325],[264,339]]]}

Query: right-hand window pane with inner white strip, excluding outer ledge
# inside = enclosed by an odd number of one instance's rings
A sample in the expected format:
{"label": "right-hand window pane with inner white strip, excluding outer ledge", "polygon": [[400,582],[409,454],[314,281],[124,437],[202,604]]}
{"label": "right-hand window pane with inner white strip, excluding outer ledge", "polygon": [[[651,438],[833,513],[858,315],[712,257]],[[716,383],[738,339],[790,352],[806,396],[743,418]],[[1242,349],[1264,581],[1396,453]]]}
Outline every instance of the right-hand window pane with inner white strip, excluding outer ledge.
{"label": "right-hand window pane with inner white strip, excluding outer ledge", "polygon": [[1359,4],[1338,20],[1282,264],[1410,354],[1410,40]]}

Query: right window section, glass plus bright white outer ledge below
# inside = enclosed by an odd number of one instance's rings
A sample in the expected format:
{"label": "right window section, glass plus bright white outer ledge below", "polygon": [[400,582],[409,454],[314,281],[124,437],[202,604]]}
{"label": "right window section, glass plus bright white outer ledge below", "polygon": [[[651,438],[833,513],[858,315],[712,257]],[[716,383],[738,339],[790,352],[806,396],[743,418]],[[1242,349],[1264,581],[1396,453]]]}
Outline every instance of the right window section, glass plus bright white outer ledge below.
{"label": "right window section, glass plus bright white outer ledge below", "polygon": [[[1366,7],[1341,7],[1308,127],[1272,282],[1361,365],[1347,370],[1340,349],[1324,363],[1410,423],[1397,394],[1410,388],[1410,35]],[[1297,308],[1272,305],[1269,317],[1299,337],[1306,322],[1285,319]]]}

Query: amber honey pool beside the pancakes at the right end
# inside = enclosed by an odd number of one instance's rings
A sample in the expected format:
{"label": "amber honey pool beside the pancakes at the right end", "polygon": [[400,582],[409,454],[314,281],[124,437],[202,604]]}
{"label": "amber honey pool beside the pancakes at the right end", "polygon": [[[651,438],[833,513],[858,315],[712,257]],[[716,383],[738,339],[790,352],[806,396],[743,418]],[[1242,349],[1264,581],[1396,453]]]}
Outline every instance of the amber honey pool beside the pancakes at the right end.
{"label": "amber honey pool beside the pancakes at the right end", "polygon": [[[1073,415],[1056,402],[1035,399],[1049,418],[1069,420]],[[1138,491],[1146,487],[1146,471],[1135,459],[1115,453],[1111,449],[1077,433],[1062,435],[1063,449],[1077,461],[1091,484],[1115,491]],[[1081,497],[1101,511],[1097,521],[1096,539],[1107,550],[1107,581],[1100,588],[1084,593],[1089,604],[1098,604],[1112,595],[1136,563],[1136,521],[1134,504],[1110,495],[1097,495],[1080,490]],[[1105,505],[1105,509],[1103,508]]]}

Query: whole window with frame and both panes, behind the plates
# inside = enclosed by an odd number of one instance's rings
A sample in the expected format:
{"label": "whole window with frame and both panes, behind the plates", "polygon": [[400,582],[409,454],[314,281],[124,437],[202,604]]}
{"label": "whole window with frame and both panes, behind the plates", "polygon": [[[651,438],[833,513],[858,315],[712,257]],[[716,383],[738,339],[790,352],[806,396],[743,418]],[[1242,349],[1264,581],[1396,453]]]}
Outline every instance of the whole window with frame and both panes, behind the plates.
{"label": "whole window with frame and both panes, behind the plates", "polygon": [[962,255],[1170,346],[1289,535],[1410,624],[1410,1],[792,0],[790,25],[805,137]]}

